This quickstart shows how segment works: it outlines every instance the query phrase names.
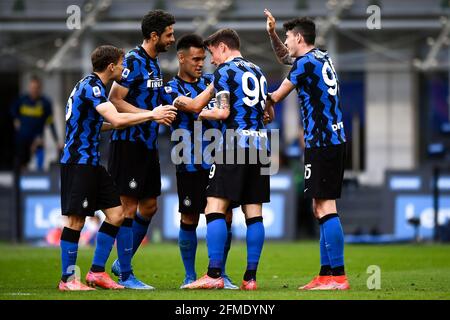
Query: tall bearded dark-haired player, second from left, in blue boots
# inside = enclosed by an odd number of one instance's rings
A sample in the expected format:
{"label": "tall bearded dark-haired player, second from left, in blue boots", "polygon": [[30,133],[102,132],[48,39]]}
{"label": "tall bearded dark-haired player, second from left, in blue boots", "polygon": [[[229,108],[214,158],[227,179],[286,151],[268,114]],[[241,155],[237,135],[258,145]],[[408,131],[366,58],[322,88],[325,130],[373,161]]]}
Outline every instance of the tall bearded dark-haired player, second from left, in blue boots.
{"label": "tall bearded dark-haired player, second from left, in blue boots", "polygon": [[[122,78],[111,88],[110,99],[120,112],[145,112],[161,104],[163,76],[158,55],[175,42],[173,15],[162,10],[147,13],[141,23],[142,45],[129,51],[124,60]],[[125,222],[120,228],[118,255],[129,260],[114,261],[112,272],[129,289],[150,290],[152,286],[138,280],[132,271],[131,258],[148,231],[161,194],[161,171],[158,155],[159,124],[152,121],[111,135],[108,171],[116,182]],[[139,209],[139,212],[137,210]]]}

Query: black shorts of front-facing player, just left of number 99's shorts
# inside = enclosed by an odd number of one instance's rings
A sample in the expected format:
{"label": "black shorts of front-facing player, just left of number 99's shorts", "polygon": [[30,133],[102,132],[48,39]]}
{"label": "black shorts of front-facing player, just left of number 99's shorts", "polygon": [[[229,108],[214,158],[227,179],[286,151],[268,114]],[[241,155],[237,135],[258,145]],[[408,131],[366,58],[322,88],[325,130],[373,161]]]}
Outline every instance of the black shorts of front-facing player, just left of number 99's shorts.
{"label": "black shorts of front-facing player, just left of number 99's shorts", "polygon": [[179,212],[184,214],[205,212],[208,176],[209,170],[177,172]]}

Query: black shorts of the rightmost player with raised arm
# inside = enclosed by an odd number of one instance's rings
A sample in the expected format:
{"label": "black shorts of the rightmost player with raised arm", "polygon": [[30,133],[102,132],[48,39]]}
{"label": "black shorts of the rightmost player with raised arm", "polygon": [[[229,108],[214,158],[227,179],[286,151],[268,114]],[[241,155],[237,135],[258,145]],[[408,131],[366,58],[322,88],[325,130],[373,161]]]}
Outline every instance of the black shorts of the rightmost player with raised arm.
{"label": "black shorts of the rightmost player with raised arm", "polygon": [[345,158],[345,143],[307,148],[305,151],[305,197],[329,200],[340,198]]}

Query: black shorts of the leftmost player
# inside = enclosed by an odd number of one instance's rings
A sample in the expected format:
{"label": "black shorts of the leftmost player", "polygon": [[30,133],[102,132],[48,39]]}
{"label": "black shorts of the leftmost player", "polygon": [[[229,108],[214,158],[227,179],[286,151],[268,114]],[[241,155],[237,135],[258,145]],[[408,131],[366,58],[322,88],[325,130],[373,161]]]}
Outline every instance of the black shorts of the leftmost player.
{"label": "black shorts of the leftmost player", "polygon": [[119,191],[102,166],[61,164],[61,211],[65,216],[93,216],[120,206]]}

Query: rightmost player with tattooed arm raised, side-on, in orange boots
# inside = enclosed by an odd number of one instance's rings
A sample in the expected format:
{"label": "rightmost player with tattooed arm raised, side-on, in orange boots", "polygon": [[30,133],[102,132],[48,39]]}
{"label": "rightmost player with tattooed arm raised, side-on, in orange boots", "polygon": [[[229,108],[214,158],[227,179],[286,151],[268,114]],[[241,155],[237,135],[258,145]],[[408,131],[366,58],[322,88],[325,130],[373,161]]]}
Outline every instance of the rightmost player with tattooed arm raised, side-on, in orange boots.
{"label": "rightmost player with tattooed arm raised, side-on, in orange boots", "polygon": [[306,147],[304,194],[313,198],[314,215],[320,224],[320,272],[299,289],[347,290],[344,234],[336,209],[346,156],[338,77],[328,53],[314,46],[316,30],[311,19],[284,23],[283,44],[275,32],[275,18],[267,9],[265,15],[278,60],[293,65],[280,87],[269,95],[268,106],[297,90]]}

